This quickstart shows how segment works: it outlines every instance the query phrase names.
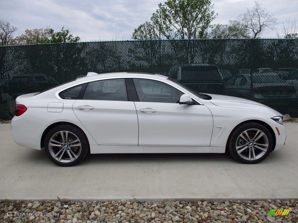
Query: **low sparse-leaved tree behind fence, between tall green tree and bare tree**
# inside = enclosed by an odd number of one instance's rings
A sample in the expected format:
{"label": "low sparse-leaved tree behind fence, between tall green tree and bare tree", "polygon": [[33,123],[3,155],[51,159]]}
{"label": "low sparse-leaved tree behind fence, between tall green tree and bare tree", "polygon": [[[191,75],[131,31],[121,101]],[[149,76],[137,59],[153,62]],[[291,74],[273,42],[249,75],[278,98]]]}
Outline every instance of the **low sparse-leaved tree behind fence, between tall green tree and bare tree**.
{"label": "low sparse-leaved tree behind fence, between tall green tree and bare tree", "polygon": [[208,34],[212,39],[239,39],[250,38],[249,29],[237,20],[230,20],[229,24],[217,24]]}

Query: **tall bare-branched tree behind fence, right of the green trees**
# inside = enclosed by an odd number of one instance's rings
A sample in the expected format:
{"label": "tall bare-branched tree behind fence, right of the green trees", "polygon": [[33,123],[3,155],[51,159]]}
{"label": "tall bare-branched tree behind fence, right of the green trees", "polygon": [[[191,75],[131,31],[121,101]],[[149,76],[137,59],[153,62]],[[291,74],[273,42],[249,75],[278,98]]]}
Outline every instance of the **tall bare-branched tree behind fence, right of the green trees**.
{"label": "tall bare-branched tree behind fence, right of the green trees", "polygon": [[238,16],[238,19],[244,26],[252,32],[252,38],[258,38],[266,29],[275,29],[277,18],[270,15],[266,8],[262,7],[262,4],[255,1],[254,7],[246,10]]}

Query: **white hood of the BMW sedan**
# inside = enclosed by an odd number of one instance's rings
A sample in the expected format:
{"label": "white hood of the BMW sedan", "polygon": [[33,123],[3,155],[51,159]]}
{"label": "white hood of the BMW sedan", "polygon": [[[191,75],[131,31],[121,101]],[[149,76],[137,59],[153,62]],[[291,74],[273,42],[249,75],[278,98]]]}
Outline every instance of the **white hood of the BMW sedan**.
{"label": "white hood of the BMW sedan", "polygon": [[263,105],[261,103],[258,103],[252,100],[247,100],[244,98],[236,98],[236,97],[226,96],[226,95],[213,95],[213,94],[208,94],[208,95],[212,97],[212,99],[209,101],[216,106],[226,107],[226,108],[252,109],[252,110],[278,113],[274,109],[271,109],[266,105]]}

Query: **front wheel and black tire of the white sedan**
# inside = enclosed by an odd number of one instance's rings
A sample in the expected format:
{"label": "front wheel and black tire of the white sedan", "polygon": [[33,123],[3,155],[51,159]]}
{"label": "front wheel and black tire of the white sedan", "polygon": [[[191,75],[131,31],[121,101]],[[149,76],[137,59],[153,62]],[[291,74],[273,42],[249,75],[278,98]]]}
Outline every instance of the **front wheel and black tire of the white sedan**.
{"label": "front wheel and black tire of the white sedan", "polygon": [[239,125],[231,133],[227,149],[239,162],[256,164],[272,151],[273,139],[269,130],[259,123]]}

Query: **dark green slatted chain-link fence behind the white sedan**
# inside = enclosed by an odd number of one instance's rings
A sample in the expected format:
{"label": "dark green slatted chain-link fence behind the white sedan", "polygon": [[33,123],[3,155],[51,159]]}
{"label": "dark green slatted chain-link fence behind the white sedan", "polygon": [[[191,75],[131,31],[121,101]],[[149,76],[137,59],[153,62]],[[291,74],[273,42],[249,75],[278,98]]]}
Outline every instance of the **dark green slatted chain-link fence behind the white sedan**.
{"label": "dark green slatted chain-link fence behind the white sedan", "polygon": [[162,74],[199,92],[298,113],[298,40],[151,40],[1,46],[0,119],[13,117],[16,96],[89,71]]}

